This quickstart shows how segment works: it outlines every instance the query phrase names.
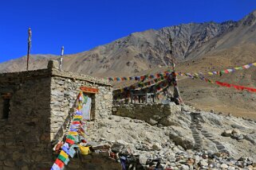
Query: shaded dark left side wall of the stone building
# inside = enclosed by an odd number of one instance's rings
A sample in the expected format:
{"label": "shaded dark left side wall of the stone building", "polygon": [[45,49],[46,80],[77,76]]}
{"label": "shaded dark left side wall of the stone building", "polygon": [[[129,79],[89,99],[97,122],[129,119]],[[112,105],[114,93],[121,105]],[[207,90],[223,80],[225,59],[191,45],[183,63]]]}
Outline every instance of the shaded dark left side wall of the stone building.
{"label": "shaded dark left side wall of the stone building", "polygon": [[40,169],[49,167],[52,159],[51,79],[23,78],[14,74],[0,78],[0,93],[12,93],[9,118],[0,119],[0,169]]}

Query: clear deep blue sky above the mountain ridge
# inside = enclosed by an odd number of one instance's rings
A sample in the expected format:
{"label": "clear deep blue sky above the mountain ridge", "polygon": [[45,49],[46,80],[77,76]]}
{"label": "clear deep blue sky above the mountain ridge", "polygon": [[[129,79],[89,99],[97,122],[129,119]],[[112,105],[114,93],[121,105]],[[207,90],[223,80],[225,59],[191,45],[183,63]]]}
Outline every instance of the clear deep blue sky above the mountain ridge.
{"label": "clear deep blue sky above the mountain ridge", "polygon": [[255,0],[2,0],[0,62],[32,54],[84,52],[130,33],[188,22],[238,21]]}

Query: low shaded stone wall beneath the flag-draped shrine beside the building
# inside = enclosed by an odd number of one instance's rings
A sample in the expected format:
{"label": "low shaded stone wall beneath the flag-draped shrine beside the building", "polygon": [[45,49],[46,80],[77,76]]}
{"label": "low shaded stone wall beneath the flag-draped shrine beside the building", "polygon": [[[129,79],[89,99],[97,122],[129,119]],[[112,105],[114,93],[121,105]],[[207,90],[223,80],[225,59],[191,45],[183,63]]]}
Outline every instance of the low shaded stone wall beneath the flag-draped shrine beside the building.
{"label": "low shaded stone wall beneath the flag-draped shrine beside the building", "polygon": [[148,122],[151,125],[173,125],[172,114],[181,112],[181,106],[174,102],[169,104],[127,104],[113,106],[113,114],[123,117],[136,118]]}

